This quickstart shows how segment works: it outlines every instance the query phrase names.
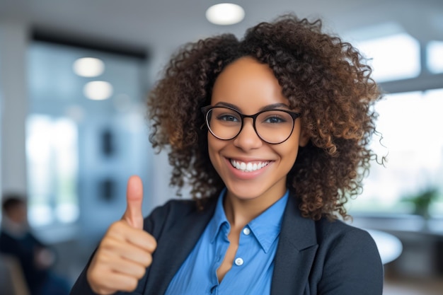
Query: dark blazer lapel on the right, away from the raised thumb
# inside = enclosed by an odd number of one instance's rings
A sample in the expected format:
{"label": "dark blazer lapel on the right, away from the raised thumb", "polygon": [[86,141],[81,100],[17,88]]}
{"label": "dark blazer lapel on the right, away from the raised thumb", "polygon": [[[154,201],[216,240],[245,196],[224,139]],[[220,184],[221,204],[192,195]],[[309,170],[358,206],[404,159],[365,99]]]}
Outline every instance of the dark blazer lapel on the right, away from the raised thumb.
{"label": "dark blazer lapel on the right, away from the raised thumb", "polygon": [[315,222],[301,216],[298,203],[290,195],[284,210],[271,295],[302,295],[308,284],[318,244]]}

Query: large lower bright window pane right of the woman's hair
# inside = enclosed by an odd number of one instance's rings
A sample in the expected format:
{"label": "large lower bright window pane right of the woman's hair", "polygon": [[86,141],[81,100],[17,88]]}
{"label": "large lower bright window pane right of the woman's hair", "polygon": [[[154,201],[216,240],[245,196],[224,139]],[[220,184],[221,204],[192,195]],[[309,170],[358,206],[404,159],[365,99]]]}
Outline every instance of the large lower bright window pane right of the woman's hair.
{"label": "large lower bright window pane right of the woman's hair", "polygon": [[443,216],[443,89],[396,93],[376,105],[377,129],[374,151],[387,154],[385,167],[374,163],[364,180],[362,195],[351,202],[352,211],[409,214],[412,204],[403,202],[435,188],[440,197],[431,207]]}

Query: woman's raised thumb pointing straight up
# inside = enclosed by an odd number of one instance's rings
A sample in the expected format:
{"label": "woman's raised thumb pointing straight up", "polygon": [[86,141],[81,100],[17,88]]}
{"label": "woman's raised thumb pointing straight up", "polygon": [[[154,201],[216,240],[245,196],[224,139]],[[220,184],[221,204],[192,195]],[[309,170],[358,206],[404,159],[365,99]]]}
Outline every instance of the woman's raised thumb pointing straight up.
{"label": "woman's raised thumb pointing straight up", "polygon": [[122,219],[135,229],[143,229],[143,183],[136,175],[127,180],[126,201],[126,211]]}

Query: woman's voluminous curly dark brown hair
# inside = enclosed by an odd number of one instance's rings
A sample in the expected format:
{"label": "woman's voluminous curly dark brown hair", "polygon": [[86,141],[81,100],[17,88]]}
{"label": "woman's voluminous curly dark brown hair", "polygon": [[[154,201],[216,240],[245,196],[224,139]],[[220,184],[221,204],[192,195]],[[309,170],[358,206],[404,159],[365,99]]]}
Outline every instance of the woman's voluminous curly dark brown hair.
{"label": "woman's voluminous curly dark brown hair", "polygon": [[373,105],[381,98],[372,69],[355,47],[323,33],[321,20],[293,14],[246,30],[243,39],[224,34],[188,43],[166,66],[148,97],[154,148],[168,146],[171,185],[190,185],[203,206],[224,183],[208,155],[207,129],[200,108],[226,65],[253,57],[272,69],[291,108],[301,110],[309,134],[299,149],[287,185],[300,199],[301,214],[314,220],[349,217],[345,203],[362,191],[362,178],[376,154]]}

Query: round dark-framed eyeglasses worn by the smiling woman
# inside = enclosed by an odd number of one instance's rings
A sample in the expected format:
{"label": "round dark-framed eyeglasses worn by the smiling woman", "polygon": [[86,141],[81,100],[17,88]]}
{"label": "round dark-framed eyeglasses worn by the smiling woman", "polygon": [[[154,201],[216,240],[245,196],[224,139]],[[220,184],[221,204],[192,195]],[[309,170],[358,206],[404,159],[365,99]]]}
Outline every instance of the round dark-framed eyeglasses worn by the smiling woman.
{"label": "round dark-framed eyeglasses worn by the smiling woman", "polygon": [[255,115],[243,115],[229,107],[207,105],[202,108],[206,125],[214,137],[222,140],[234,139],[243,129],[244,119],[252,118],[255,133],[268,144],[281,144],[294,130],[299,112],[289,110],[262,110]]}

